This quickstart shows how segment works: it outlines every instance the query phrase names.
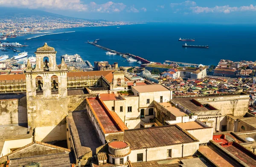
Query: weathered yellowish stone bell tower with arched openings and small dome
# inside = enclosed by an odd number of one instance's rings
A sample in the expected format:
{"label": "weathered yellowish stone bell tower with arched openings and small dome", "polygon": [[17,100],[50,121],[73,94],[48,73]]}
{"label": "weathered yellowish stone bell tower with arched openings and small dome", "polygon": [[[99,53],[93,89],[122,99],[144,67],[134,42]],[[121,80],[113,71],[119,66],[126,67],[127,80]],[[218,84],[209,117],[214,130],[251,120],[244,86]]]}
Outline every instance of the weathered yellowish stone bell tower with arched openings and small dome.
{"label": "weathered yellowish stone bell tower with arched openings and small dome", "polygon": [[56,53],[44,43],[35,52],[35,68],[27,63],[28,125],[35,130],[35,141],[66,140],[67,66],[64,60],[57,66]]}

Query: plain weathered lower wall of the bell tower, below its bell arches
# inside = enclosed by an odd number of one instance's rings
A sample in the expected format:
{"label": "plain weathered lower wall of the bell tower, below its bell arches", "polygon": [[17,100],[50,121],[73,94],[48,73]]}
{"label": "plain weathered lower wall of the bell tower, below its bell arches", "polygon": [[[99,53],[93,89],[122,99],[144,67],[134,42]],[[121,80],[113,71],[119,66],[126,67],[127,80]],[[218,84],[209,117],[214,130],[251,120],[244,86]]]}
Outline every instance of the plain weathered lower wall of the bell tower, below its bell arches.
{"label": "plain weathered lower wall of the bell tower, below its bell arches", "polygon": [[66,140],[67,98],[27,101],[28,124],[36,141]]}

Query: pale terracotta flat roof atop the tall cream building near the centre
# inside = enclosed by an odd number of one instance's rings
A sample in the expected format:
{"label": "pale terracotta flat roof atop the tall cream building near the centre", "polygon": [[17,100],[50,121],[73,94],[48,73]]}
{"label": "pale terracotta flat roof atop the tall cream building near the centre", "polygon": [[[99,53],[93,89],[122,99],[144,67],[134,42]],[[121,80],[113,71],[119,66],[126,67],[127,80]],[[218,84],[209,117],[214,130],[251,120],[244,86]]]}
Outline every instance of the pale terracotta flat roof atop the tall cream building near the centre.
{"label": "pale terracotta flat roof atop the tall cream building near the centre", "polygon": [[161,84],[140,85],[131,87],[139,93],[170,91]]}

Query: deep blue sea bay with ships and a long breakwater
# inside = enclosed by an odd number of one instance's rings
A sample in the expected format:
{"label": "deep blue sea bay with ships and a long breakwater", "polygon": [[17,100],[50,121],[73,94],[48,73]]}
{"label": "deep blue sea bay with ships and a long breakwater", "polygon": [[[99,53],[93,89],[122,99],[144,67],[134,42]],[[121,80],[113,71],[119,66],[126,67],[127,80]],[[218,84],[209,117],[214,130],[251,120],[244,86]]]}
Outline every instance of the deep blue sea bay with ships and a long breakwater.
{"label": "deep blue sea bay with ships and a long breakwater", "polygon": [[[123,53],[131,53],[149,61],[161,62],[165,60],[216,65],[220,59],[233,61],[256,60],[256,24],[199,24],[199,23],[146,23],[136,25],[107,27],[82,27],[73,29],[49,30],[51,32],[73,33],[46,35],[24,40],[38,35],[26,35],[8,39],[9,42],[26,43],[28,55],[45,42],[57,51],[57,63],[61,63],[60,56],[64,54],[79,54],[84,60],[118,62],[119,66],[136,66],[136,62],[129,63],[119,55],[105,55],[105,50],[92,46],[87,42],[95,39],[99,45]],[[195,38],[193,45],[209,45],[209,49],[183,48],[179,38]],[[0,51],[1,52],[1,51]],[[14,52],[1,52],[10,57]]]}

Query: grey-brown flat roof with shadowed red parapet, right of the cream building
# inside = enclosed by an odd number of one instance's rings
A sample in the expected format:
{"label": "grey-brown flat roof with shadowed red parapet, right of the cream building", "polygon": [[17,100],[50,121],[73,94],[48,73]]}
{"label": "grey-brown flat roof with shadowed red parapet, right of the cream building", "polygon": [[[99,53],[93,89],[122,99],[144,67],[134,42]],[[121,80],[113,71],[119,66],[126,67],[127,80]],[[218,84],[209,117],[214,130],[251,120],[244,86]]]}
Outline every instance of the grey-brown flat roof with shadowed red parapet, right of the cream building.
{"label": "grey-brown flat roof with shadowed red parapet, right of the cream building", "polygon": [[173,98],[176,104],[180,104],[183,107],[189,109],[192,112],[203,112],[203,111],[210,111],[213,110],[210,107],[205,107],[206,105],[200,105],[200,103],[196,103],[193,101],[193,98]]}

